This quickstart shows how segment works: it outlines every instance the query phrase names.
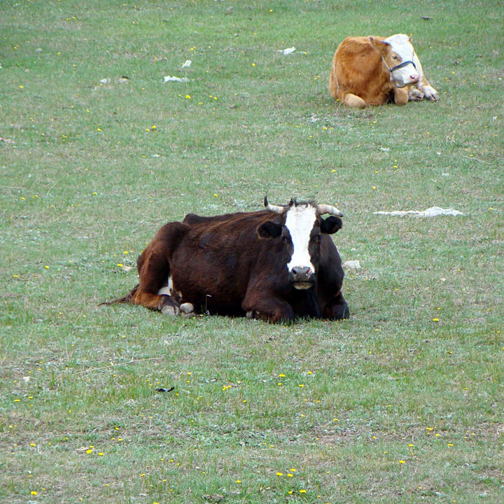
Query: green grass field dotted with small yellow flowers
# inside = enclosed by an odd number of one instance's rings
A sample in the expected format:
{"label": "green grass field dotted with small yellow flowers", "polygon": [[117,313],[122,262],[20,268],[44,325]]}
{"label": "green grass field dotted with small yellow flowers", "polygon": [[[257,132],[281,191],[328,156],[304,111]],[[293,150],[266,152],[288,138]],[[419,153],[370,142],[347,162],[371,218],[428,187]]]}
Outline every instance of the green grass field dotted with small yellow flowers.
{"label": "green grass field dotted with small yellow flowers", "polygon": [[[8,0],[0,28],[1,503],[504,502],[501,1]],[[339,41],[398,32],[440,101],[335,102]],[[349,320],[97,306],[163,223],[266,194],[344,212]],[[373,214],[433,205],[465,215]]]}

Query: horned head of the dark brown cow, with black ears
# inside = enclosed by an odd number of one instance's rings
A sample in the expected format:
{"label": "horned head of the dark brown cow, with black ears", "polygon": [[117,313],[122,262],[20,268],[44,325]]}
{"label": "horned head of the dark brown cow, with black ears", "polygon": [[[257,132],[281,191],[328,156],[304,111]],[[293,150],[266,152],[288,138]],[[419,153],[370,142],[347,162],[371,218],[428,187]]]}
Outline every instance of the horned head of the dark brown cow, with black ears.
{"label": "horned head of the dark brown cow, with black ears", "polygon": [[[284,207],[269,204],[265,197],[265,207],[281,219],[262,223],[257,230],[259,237],[281,239],[290,283],[297,289],[311,288],[318,270],[321,235],[341,229],[339,217],[343,214],[330,205],[298,203],[295,199]],[[324,214],[331,216],[323,219]]]}

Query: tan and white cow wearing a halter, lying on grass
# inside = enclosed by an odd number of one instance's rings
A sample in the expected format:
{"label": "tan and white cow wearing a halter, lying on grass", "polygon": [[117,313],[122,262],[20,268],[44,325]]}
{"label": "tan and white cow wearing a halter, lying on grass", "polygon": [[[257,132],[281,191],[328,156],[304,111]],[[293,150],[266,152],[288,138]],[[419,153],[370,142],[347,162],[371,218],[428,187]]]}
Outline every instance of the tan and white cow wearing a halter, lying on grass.
{"label": "tan and white cow wearing a halter, lying on grass", "polygon": [[411,40],[405,34],[346,37],[332,59],[332,97],[356,108],[437,100],[439,95],[423,75]]}

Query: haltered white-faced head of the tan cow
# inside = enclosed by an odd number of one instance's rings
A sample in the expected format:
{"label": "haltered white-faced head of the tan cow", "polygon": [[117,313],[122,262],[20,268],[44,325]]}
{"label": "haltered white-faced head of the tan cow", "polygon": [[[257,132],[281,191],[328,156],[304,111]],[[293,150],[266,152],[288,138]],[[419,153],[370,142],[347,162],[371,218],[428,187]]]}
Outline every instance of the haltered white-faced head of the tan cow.
{"label": "haltered white-faced head of the tan cow", "polygon": [[412,38],[404,34],[392,35],[383,41],[370,36],[370,43],[380,53],[395,87],[405,87],[419,81],[411,41]]}

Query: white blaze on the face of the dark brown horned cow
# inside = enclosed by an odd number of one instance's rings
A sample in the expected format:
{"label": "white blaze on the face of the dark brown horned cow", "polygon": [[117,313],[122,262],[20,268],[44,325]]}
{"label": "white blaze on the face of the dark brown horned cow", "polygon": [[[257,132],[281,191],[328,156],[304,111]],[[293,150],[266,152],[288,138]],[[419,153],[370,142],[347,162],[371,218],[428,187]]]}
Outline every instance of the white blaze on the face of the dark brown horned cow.
{"label": "white blaze on the face of the dark brown horned cow", "polygon": [[287,264],[289,272],[296,266],[309,267],[312,272],[315,272],[308,251],[310,233],[315,221],[316,208],[311,205],[293,206],[287,211],[285,225],[294,246],[293,255]]}

